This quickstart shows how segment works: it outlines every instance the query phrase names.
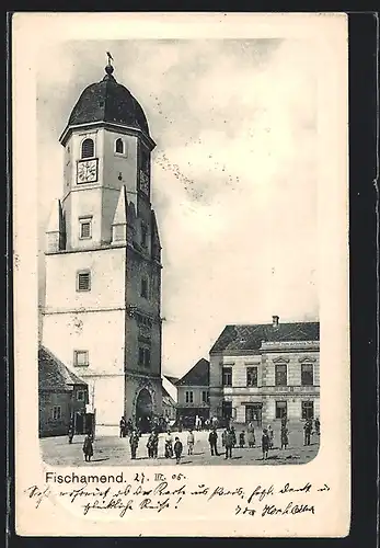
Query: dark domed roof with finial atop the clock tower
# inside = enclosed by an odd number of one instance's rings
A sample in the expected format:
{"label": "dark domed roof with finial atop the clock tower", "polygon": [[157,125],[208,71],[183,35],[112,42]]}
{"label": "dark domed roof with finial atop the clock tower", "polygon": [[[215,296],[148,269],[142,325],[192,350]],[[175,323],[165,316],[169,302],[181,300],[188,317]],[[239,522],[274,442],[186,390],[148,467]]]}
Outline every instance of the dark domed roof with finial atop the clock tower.
{"label": "dark domed roof with finial atop the clock tower", "polygon": [[72,109],[68,126],[108,122],[141,129],[149,136],[148,122],[138,101],[115,80],[111,65],[105,71],[103,80],[84,89]]}

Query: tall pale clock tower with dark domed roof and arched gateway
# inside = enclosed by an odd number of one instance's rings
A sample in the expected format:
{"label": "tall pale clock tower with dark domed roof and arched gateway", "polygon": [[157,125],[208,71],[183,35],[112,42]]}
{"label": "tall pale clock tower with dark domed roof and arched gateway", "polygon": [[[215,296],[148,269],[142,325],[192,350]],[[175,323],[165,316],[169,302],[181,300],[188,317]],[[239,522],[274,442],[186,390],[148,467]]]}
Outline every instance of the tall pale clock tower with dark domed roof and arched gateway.
{"label": "tall pale clock tower with dark domed roof and arched gateway", "polygon": [[111,65],[60,136],[46,231],[43,344],[89,385],[99,427],[161,414],[161,246],[146,115]]}

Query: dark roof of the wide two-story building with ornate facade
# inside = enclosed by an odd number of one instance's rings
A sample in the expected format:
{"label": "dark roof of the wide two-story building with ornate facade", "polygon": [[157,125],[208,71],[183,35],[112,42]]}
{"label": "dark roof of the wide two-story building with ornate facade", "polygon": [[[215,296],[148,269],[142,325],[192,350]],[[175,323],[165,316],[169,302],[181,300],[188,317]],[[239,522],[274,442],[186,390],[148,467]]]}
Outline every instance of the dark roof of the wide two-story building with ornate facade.
{"label": "dark roof of the wide two-story building with ornate facade", "polygon": [[226,326],[210,353],[260,350],[262,342],[319,341],[319,322]]}

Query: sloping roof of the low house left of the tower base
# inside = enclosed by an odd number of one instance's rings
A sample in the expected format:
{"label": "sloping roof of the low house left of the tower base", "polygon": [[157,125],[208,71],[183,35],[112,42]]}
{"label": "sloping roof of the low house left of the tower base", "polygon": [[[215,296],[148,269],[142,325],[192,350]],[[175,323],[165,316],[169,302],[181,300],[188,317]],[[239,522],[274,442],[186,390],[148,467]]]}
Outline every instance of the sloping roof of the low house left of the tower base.
{"label": "sloping roof of the low house left of the tower base", "polygon": [[41,346],[38,350],[38,388],[68,392],[72,390],[73,385],[88,386],[49,350]]}

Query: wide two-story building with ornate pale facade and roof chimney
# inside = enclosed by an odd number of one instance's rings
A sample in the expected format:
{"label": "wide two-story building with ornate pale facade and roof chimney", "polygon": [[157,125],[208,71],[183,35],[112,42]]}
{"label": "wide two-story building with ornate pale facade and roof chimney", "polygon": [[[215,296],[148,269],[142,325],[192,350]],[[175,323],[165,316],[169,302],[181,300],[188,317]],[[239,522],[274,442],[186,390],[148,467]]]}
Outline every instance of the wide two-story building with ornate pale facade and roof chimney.
{"label": "wide two-story building with ornate pale facade and roof chimney", "polygon": [[210,350],[210,413],[237,423],[320,414],[319,322],[227,326]]}

